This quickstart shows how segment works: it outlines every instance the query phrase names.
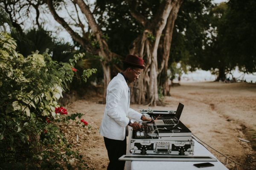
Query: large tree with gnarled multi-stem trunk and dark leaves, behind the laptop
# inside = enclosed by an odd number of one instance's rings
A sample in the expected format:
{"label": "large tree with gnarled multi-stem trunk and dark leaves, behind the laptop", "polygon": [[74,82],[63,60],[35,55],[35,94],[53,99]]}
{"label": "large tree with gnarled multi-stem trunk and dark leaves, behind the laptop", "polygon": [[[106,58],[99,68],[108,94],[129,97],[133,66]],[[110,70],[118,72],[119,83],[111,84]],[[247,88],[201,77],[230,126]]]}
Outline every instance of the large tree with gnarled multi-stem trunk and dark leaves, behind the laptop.
{"label": "large tree with gnarled multi-stem trunk and dark leaves, behind the laptop", "polygon": [[[177,16],[181,1],[143,0],[137,2],[136,0],[108,0],[97,2],[101,10],[103,9],[103,11],[105,10],[108,12],[109,25],[113,23],[122,30],[124,27],[120,26],[120,20],[126,21],[122,22],[125,23],[125,28],[128,30],[123,31],[124,34],[128,33],[128,35],[131,35],[129,33],[134,33],[130,37],[126,36],[128,37],[128,40],[125,41],[130,41],[131,43],[128,53],[136,54],[142,57],[145,61],[145,69],[141,75],[142,78],[140,78],[131,88],[131,102],[136,101],[139,103],[156,105],[158,102],[157,76],[163,70],[164,62],[166,62],[166,59],[160,59],[162,56],[157,56],[160,37],[166,23],[175,21],[175,15]],[[167,21],[169,15],[174,17]],[[113,18],[114,20],[111,21]],[[130,23],[131,26],[128,25]],[[172,30],[172,27],[173,25],[170,26],[170,30]],[[106,30],[109,30],[109,28],[113,30],[114,27],[106,26],[106,28]],[[133,31],[131,31],[131,29],[133,29]],[[169,34],[169,32],[167,34]],[[134,37],[133,40],[131,37]],[[169,57],[169,55],[167,56]],[[158,60],[160,61],[160,64],[158,64]]]}

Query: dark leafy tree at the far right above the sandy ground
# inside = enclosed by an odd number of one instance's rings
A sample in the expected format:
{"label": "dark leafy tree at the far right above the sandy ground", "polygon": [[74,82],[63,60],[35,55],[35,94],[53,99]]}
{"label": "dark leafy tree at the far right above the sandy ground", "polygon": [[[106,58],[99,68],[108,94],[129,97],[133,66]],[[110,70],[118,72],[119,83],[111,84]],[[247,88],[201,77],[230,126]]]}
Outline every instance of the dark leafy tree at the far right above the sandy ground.
{"label": "dark leafy tree at the far right above the sandy ground", "polygon": [[212,8],[211,28],[205,40],[204,57],[196,60],[204,70],[217,74],[217,81],[239,67],[244,73],[256,71],[255,1],[230,0]]}

